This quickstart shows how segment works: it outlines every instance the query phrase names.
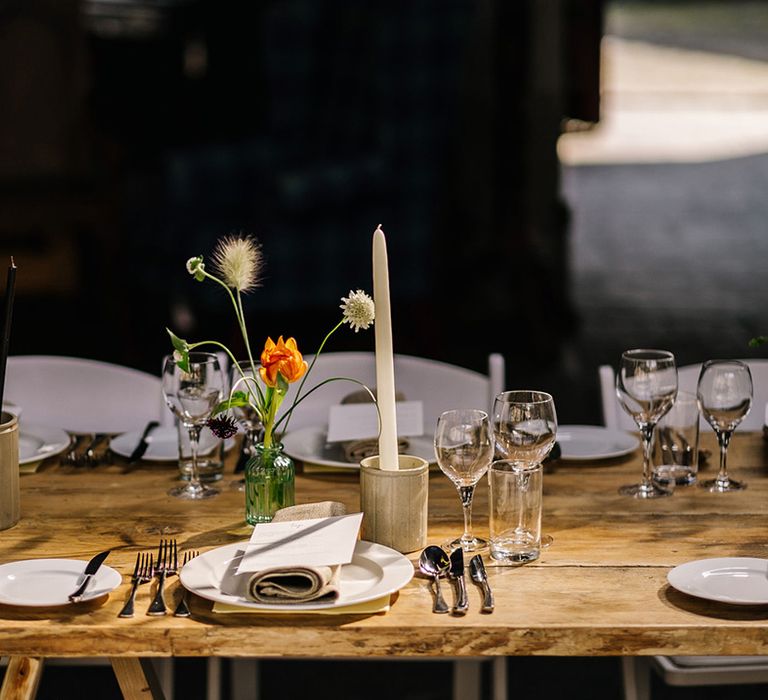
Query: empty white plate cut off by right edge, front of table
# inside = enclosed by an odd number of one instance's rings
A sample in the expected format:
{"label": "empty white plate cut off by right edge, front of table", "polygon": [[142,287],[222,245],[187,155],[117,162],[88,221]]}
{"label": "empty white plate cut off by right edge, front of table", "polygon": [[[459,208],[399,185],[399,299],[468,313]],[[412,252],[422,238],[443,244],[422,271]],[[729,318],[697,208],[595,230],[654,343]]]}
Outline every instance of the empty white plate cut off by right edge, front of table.
{"label": "empty white plate cut off by right edge, front of table", "polygon": [[721,557],[698,559],[667,574],[682,593],[735,605],[768,605],[768,559]]}

